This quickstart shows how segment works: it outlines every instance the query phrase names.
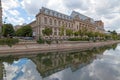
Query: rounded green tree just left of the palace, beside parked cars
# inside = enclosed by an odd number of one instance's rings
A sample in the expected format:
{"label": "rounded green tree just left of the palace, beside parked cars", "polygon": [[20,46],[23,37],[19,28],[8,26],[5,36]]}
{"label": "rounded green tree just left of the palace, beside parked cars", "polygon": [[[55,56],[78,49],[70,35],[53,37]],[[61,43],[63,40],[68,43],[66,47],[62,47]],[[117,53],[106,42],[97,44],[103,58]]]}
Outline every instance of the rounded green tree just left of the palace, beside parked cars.
{"label": "rounded green tree just left of the palace, beside parked cars", "polygon": [[16,31],[17,36],[31,37],[32,36],[32,28],[29,25],[23,26]]}

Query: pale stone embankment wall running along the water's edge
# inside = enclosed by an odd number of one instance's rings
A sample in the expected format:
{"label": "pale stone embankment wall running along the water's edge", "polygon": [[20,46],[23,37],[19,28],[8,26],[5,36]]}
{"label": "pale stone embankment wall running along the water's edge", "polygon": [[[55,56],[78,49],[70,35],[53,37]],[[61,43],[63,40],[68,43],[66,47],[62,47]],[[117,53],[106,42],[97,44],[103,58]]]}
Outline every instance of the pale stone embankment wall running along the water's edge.
{"label": "pale stone embankment wall running along the water's edge", "polygon": [[85,50],[94,47],[102,47],[120,43],[120,41],[102,41],[102,42],[79,42],[79,41],[64,41],[58,44],[37,44],[35,42],[19,43],[12,47],[7,45],[0,45],[0,56],[3,55],[19,55],[42,52],[66,51],[66,50]]}

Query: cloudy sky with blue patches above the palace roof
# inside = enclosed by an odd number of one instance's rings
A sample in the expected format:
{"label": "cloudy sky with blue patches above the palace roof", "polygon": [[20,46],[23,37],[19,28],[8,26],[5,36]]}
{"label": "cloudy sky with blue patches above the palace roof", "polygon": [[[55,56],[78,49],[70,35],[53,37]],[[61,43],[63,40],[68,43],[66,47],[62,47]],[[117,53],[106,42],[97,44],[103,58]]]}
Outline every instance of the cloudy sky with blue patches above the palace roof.
{"label": "cloudy sky with blue patches above the palace roof", "polygon": [[67,15],[77,11],[102,20],[105,30],[120,33],[120,0],[2,0],[3,22],[21,25],[35,20],[41,7]]}

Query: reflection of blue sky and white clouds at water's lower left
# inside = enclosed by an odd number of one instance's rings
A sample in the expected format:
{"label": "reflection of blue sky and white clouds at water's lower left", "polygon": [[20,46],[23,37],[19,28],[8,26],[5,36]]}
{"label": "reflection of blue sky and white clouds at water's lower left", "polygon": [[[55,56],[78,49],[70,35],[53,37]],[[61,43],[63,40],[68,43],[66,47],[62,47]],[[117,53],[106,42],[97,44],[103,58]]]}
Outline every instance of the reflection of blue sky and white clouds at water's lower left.
{"label": "reflection of blue sky and white clouds at water's lower left", "polygon": [[41,76],[36,70],[36,65],[27,58],[14,61],[12,64],[3,62],[3,80],[41,80]]}

